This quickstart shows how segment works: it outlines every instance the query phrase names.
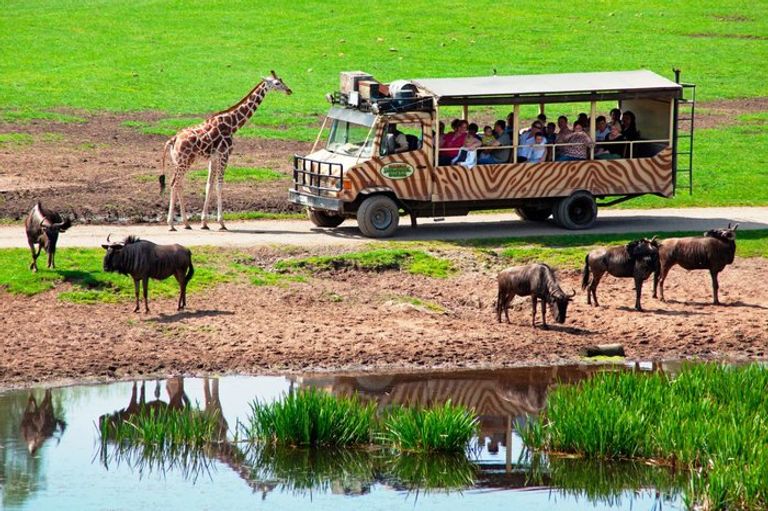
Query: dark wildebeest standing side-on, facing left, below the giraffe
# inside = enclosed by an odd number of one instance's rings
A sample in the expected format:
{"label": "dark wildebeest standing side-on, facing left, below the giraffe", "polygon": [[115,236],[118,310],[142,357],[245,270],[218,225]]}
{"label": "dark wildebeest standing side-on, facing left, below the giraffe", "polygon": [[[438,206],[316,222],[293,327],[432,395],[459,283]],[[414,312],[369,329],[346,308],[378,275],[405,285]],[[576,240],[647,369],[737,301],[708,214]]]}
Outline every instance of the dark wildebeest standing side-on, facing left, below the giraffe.
{"label": "dark wildebeest standing side-on, facing left, below the giraffe", "polygon": [[156,245],[151,241],[128,236],[119,243],[102,245],[104,271],[116,271],[133,277],[136,292],[136,308],[139,312],[139,281],[144,283],[144,311],[149,312],[147,286],[149,279],[165,280],[171,275],[179,282],[179,310],[187,305],[187,283],[195,273],[192,266],[192,252],[181,245]]}

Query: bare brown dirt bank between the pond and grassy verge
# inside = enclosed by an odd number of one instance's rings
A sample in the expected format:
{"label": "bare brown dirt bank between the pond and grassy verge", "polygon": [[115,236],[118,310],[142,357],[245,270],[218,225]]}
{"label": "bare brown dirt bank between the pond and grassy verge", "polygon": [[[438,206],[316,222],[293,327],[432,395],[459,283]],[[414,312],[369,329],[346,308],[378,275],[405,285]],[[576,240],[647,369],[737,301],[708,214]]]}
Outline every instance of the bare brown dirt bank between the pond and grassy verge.
{"label": "bare brown dirt bank between the pond and grassy verge", "polygon": [[[511,324],[497,323],[497,264],[469,261],[454,277],[339,271],[308,282],[219,285],[151,300],[150,314],[130,303],[75,305],[53,291],[35,297],[0,291],[0,387],[171,374],[384,371],[487,368],[581,360],[592,344],[621,343],[633,360],[766,359],[768,261],[741,259],[720,278],[722,306],[711,301],[707,272],[675,268],[661,303],[644,293],[636,312],[632,282],[606,278],[601,306],[581,290],[567,322],[530,325],[529,299],[517,298]],[[578,289],[578,272],[562,272]],[[413,305],[419,298],[433,306]],[[431,310],[438,309],[438,310]]]}

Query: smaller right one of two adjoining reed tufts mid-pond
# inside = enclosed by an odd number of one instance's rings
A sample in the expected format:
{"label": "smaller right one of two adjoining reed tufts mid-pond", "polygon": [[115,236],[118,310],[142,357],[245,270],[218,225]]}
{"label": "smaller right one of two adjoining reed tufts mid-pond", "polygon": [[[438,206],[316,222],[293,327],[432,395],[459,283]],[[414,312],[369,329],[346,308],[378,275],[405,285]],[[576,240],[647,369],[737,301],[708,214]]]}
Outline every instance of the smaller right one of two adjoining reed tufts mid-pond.
{"label": "smaller right one of two adjoining reed tufts mid-pond", "polygon": [[384,418],[381,439],[401,451],[463,452],[477,434],[477,416],[450,400],[432,408],[395,408]]}

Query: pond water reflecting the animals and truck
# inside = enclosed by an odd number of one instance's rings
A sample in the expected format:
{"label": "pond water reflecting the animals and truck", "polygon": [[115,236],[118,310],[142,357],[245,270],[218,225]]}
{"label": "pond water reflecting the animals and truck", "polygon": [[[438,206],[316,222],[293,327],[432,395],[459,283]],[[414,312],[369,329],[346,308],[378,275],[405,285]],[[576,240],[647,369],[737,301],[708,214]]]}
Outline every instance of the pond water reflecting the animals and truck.
{"label": "pond water reflecting the animals and truck", "polygon": [[[623,369],[622,366],[618,366]],[[647,364],[645,370],[675,365]],[[557,382],[616,366],[436,373],[172,378],[0,393],[1,509],[683,509],[680,476],[634,464],[546,459],[516,430]],[[466,456],[394,456],[368,449],[308,451],[237,441],[254,399],[291,389],[358,393],[384,407],[451,399],[474,408],[480,434]],[[99,418],[146,402],[221,412],[216,448],[153,456],[102,445]],[[128,410],[130,412],[130,409]]]}

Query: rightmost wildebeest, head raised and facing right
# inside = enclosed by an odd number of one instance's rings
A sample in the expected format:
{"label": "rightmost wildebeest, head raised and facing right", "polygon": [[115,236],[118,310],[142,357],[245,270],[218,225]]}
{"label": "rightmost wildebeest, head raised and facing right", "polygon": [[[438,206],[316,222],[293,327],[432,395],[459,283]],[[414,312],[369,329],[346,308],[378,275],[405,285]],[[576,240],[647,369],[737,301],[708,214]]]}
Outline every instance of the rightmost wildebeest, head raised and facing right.
{"label": "rightmost wildebeest, head raised and facing right", "polygon": [[[667,273],[676,264],[686,270],[709,270],[712,276],[713,303],[720,305],[717,296],[719,284],[717,274],[723,268],[733,262],[736,255],[736,229],[739,224],[726,229],[712,229],[704,233],[704,236],[690,238],[669,238],[661,242],[659,247],[659,263],[661,275],[659,277],[659,289],[661,301],[664,301],[664,280]],[[653,297],[656,298],[656,286],[653,286]]]}

